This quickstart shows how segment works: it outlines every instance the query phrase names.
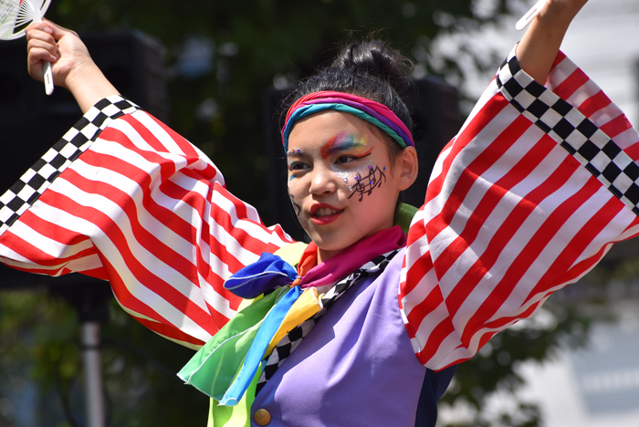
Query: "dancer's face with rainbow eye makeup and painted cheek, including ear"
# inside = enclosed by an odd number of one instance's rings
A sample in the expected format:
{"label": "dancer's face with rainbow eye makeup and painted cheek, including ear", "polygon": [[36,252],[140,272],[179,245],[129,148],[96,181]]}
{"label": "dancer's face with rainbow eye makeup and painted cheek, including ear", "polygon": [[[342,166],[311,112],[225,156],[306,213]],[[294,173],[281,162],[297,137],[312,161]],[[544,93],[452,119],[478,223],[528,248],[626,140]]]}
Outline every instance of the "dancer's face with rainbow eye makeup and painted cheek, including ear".
{"label": "dancer's face with rainbow eye makeup and painted cheek, including ear", "polygon": [[391,164],[384,141],[365,121],[338,111],[299,120],[287,160],[288,193],[320,261],[393,226],[399,192],[414,181],[406,180],[404,161]]}

